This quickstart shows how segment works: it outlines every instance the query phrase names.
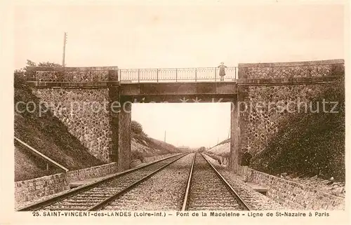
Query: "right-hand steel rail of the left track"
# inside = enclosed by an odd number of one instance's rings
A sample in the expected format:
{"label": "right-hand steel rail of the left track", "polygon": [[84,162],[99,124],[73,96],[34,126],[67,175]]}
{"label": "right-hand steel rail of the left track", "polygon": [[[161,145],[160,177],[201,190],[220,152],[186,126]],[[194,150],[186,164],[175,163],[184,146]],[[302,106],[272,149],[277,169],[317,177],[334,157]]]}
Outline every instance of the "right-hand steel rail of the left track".
{"label": "right-hand steel rail of the left track", "polygon": [[149,175],[146,175],[145,177],[139,179],[138,181],[134,182],[133,184],[131,184],[130,186],[127,186],[125,189],[114,193],[112,196],[106,198],[105,200],[102,200],[100,203],[94,205],[93,207],[90,207],[88,210],[86,211],[95,211],[100,209],[101,207],[104,207],[105,205],[107,205],[108,203],[110,203],[112,200],[118,198],[119,196],[123,195],[124,193],[126,193],[127,191],[130,191],[131,189],[133,189],[135,186],[138,186],[138,184],[145,182],[145,180],[149,179],[150,177],[152,177],[153,175],[155,175],[157,172],[163,170],[164,168],[166,168],[168,165],[171,165],[172,163],[180,160],[180,158],[183,158],[184,156],[186,156],[187,154],[180,156],[179,158],[176,158],[175,160],[167,163],[166,165],[161,166],[161,168],[158,168],[157,170],[155,170],[154,172],[151,172]]}

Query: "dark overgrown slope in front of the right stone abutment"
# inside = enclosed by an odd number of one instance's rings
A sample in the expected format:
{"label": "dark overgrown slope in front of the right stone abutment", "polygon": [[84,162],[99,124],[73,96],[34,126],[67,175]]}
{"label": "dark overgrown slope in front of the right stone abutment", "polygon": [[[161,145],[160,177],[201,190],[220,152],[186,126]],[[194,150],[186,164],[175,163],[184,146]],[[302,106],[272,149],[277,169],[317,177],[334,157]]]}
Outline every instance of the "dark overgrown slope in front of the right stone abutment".
{"label": "dark overgrown slope in front of the right stone abutment", "polygon": [[[300,113],[271,140],[269,146],[251,159],[253,168],[276,175],[295,172],[298,176],[318,175],[345,180],[345,88],[343,81],[329,86],[314,98],[338,102],[338,113]],[[326,107],[330,110],[333,104]]]}

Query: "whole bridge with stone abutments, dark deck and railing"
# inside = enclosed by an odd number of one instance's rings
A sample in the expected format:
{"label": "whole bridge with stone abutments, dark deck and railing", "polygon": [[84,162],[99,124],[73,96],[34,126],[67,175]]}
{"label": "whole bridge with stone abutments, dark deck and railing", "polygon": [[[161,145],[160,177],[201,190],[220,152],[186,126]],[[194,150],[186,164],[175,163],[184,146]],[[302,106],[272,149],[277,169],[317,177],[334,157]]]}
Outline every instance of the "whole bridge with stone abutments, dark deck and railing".
{"label": "whole bridge with stone abutments, dark deck and railing", "polygon": [[[228,67],[225,81],[219,81],[218,69],[211,67],[27,71],[27,85],[41,102],[93,156],[117,162],[119,171],[130,168],[133,102],[232,102],[230,168],[235,171],[242,149],[262,151],[291,114],[298,113],[288,110],[289,101],[308,102],[345,74],[343,60],[243,63]],[[282,107],[287,108],[278,111]]]}

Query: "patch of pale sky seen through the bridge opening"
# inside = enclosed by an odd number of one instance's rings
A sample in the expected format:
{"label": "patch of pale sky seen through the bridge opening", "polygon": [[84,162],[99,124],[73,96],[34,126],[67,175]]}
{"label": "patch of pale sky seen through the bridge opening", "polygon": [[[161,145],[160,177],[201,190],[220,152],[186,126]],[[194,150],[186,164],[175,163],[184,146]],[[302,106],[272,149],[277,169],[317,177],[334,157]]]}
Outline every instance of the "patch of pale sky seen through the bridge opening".
{"label": "patch of pale sky seen through the bridge opening", "polygon": [[150,137],[176,146],[211,147],[229,137],[230,103],[136,103],[132,119]]}

